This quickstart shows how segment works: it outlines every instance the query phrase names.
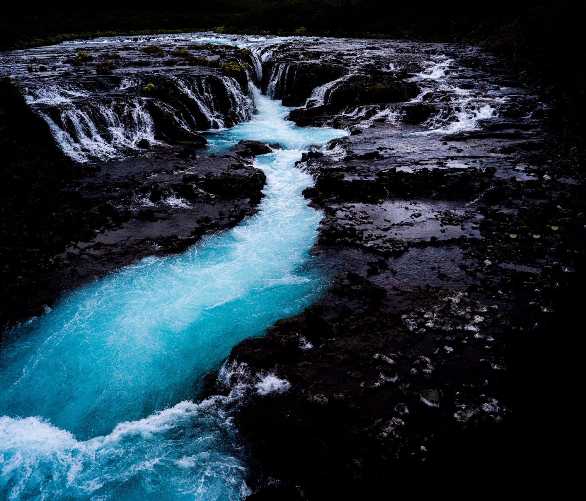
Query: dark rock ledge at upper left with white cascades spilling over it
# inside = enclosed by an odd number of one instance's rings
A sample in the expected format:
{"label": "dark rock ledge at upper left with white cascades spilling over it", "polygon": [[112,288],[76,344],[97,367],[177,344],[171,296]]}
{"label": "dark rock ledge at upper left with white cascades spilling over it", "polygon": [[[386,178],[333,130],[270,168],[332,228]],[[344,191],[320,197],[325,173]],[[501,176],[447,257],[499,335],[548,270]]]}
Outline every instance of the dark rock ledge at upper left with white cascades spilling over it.
{"label": "dark rock ledge at upper left with white cascades spilling over it", "polygon": [[[200,131],[254,114],[249,84],[258,81],[258,61],[250,52],[173,37],[152,43],[131,37],[61,44],[4,53],[0,64],[78,162],[121,159],[169,143],[203,147]],[[104,65],[108,71],[99,71]]]}

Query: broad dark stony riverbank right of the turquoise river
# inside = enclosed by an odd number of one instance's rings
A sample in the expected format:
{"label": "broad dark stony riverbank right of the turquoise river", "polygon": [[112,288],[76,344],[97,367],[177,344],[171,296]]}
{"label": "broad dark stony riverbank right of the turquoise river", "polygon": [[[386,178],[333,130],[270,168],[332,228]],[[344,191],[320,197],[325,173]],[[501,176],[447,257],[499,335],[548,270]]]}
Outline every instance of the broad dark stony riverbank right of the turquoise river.
{"label": "broad dark stony riverbank right of the turquoise river", "polygon": [[[539,462],[551,445],[533,439],[530,409],[552,383],[532,366],[577,307],[576,161],[556,154],[547,109],[503,61],[365,45],[282,46],[265,73],[267,92],[302,105],[289,119],[351,134],[298,163],[324,212],[314,252],[328,290],[229,359],[292,385],[240,413],[262,472],[251,499],[374,492],[390,472],[506,482],[517,446]],[[333,69],[302,102],[310,54]]]}

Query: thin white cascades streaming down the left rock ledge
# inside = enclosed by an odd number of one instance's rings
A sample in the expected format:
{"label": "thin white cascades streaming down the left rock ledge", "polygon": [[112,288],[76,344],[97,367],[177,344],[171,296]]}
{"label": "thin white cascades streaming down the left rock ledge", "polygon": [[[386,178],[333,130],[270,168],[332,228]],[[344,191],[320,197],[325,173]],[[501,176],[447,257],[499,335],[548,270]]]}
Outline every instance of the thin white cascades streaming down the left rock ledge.
{"label": "thin white cascades streaming down the left rock ledge", "polygon": [[[171,77],[178,89],[195,101],[201,116],[194,120],[185,109],[154,99],[153,105],[170,116],[179,128],[195,133],[209,128],[222,129],[250,120],[255,113],[251,91],[243,91],[228,76],[205,78]],[[213,80],[214,82],[212,83]],[[139,88],[137,78],[122,78],[117,90]],[[155,139],[155,124],[148,111],[147,97],[91,99],[86,90],[71,85],[27,88],[27,101],[49,124],[63,153],[77,162],[91,159],[111,160],[137,150],[138,142]],[[220,105],[218,95],[224,99]],[[203,121],[202,121],[203,118]]]}

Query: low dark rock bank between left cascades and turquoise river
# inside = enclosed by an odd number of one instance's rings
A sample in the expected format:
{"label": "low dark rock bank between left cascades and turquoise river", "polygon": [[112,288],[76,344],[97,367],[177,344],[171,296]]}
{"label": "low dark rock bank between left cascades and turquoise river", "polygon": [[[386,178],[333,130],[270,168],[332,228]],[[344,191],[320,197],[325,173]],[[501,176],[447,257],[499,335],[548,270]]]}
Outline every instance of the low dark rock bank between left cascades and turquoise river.
{"label": "low dark rock bank between left cascades and turquoise river", "polygon": [[27,249],[26,260],[16,265],[2,320],[41,314],[63,291],[145,256],[180,252],[254,214],[266,179],[253,167],[253,150],[264,148],[248,142],[239,147],[243,157],[175,147],[74,166],[73,179],[56,194],[53,216],[62,222],[60,231],[48,235],[44,247]]}

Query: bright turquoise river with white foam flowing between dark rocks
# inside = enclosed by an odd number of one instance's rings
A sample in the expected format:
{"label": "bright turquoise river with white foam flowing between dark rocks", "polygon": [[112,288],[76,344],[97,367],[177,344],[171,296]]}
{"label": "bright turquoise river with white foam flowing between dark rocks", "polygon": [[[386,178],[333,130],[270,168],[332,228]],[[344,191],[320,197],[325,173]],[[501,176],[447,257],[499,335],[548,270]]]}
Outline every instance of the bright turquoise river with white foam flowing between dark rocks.
{"label": "bright turquoise river with white foam flowing between dark rocks", "polygon": [[207,135],[285,147],[258,157],[260,212],[178,256],[151,257],[68,293],[7,335],[0,352],[0,498],[236,500],[249,492],[246,444],[231,409],[246,391],[283,390],[255,375],[201,400],[206,373],[242,339],[311,303],[308,266],[321,214],[294,162],[345,132],[298,128],[278,101]]}

